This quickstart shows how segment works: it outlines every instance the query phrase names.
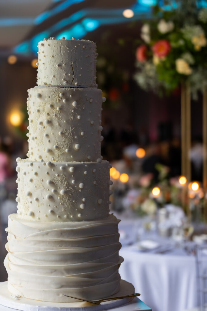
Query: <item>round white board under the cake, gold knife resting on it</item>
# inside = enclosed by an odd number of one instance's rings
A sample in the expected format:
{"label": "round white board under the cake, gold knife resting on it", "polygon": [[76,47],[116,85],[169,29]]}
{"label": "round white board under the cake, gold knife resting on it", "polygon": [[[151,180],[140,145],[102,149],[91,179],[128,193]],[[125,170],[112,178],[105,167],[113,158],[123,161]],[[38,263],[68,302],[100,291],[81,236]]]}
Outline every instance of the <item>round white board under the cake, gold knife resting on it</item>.
{"label": "round white board under the cake, gold knife resting on it", "polygon": [[[134,286],[127,281],[121,280],[119,292],[110,296],[110,298],[130,295],[133,293]],[[7,289],[7,281],[0,283],[0,304],[5,307],[21,311],[101,311],[119,307],[121,305],[127,304],[133,299],[133,297],[130,297],[109,300],[102,302],[99,305],[92,305],[88,302],[47,302],[27,299],[24,297],[15,300],[11,298],[10,295],[11,293]]]}

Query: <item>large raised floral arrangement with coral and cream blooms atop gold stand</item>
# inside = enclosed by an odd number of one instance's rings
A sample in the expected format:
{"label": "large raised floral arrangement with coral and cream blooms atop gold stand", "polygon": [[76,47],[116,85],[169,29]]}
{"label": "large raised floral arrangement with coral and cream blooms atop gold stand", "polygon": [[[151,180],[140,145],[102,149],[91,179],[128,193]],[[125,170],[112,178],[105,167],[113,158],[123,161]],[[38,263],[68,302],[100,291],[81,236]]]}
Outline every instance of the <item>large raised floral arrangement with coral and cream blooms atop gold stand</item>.
{"label": "large raised floral arrangement with coral and cream blooms atop gold stand", "polygon": [[160,93],[189,83],[196,96],[207,85],[207,8],[193,0],[176,3],[173,8],[165,1],[168,10],[153,7],[154,18],[143,24],[134,78],[144,90]]}

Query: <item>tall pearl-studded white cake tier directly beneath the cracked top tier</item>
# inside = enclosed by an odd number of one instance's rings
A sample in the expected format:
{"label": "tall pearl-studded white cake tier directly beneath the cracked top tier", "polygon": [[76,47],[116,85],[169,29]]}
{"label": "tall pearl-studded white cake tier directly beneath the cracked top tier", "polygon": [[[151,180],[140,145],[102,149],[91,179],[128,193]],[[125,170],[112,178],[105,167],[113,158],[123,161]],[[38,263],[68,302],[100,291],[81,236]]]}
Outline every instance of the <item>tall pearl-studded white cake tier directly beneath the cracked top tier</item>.
{"label": "tall pearl-studded white cake tier directly beneath the cracked top tier", "polygon": [[29,159],[96,161],[101,156],[102,92],[36,86],[29,90]]}

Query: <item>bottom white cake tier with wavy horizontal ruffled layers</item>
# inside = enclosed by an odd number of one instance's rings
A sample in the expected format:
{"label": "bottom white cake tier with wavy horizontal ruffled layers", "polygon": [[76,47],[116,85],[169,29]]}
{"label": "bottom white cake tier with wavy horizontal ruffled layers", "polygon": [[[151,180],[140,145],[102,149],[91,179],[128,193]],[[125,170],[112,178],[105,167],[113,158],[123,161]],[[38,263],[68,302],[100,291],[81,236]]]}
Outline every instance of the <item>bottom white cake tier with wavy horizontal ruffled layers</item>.
{"label": "bottom white cake tier with wavy horizontal ruffled layers", "polygon": [[34,222],[11,214],[4,265],[8,289],[25,298],[101,299],[119,290],[119,220]]}

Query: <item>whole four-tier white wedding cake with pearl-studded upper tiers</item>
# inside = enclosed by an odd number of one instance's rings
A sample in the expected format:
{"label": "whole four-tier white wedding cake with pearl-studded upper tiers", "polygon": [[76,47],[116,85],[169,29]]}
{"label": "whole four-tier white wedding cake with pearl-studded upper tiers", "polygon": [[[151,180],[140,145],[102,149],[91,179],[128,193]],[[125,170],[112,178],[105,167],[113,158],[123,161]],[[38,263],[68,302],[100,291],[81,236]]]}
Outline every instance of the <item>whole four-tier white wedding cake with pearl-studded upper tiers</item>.
{"label": "whole four-tier white wedding cake with pearl-studded upper tiers", "polygon": [[17,158],[18,210],[8,218],[8,290],[49,302],[105,298],[119,291],[123,258],[100,154],[96,44],[50,38],[38,48],[28,158]]}

